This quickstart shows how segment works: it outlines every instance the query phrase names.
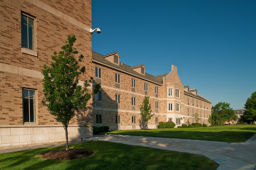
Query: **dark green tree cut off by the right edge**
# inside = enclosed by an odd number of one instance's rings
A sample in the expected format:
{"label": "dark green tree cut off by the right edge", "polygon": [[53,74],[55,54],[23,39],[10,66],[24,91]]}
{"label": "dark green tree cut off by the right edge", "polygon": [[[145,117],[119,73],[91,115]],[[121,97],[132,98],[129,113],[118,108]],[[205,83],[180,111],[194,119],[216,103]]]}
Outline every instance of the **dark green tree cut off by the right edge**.
{"label": "dark green tree cut off by the right edge", "polygon": [[245,122],[251,124],[256,121],[256,91],[253,92],[251,97],[247,98],[244,106],[246,111],[243,115],[243,119]]}

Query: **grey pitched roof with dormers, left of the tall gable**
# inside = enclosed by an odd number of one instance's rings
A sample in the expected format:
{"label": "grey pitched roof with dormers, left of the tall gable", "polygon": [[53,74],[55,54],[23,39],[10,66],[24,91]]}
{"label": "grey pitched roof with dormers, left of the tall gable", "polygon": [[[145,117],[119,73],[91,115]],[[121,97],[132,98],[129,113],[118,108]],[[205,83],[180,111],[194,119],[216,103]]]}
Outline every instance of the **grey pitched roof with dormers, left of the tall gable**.
{"label": "grey pitched roof with dormers, left of the tall gable", "polygon": [[116,64],[113,64],[113,63],[109,62],[108,60],[106,60],[103,57],[105,57],[105,56],[102,55],[102,54],[99,54],[97,52],[92,51],[92,61],[93,62],[96,62],[96,63],[99,63],[99,64],[106,64],[107,66],[114,67],[114,69],[116,69],[116,70],[123,71],[123,72],[129,73],[129,74],[135,75],[136,77],[139,77],[141,79],[145,79],[146,81],[149,80],[149,81],[154,82],[154,83],[159,84],[159,85],[163,84],[163,78],[161,77],[162,78],[161,79],[159,77],[160,75],[154,76],[154,75],[151,75],[151,74],[148,74],[148,73],[145,73],[145,75],[142,75],[142,74],[132,70],[132,67],[129,66],[129,65],[126,65],[126,64],[121,63],[121,62],[120,62],[119,65],[116,65]]}

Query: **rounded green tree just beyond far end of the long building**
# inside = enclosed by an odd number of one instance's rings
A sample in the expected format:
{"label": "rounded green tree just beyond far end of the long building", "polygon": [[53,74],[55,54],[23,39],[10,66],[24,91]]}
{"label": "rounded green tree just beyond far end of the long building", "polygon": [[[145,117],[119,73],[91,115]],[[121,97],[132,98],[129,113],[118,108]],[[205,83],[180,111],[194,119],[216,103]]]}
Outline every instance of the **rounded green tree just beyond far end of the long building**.
{"label": "rounded green tree just beyond far end of the long building", "polygon": [[212,115],[209,117],[209,123],[212,125],[223,125],[226,121],[236,120],[237,116],[229,105],[229,103],[219,102],[212,106]]}

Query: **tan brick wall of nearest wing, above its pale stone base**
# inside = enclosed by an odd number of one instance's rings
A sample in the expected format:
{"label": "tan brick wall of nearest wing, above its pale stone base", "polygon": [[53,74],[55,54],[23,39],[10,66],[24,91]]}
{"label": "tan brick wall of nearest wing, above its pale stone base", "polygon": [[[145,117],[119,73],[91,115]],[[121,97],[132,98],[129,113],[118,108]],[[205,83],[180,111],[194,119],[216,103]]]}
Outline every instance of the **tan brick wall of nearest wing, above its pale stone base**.
{"label": "tan brick wall of nearest wing, above its pale stone base", "polygon": [[[21,12],[36,18],[37,57],[21,52]],[[74,46],[78,55],[84,55],[82,65],[86,67],[81,80],[93,76],[92,36],[89,32],[91,1],[6,0],[1,1],[0,15],[0,125],[5,128],[26,125],[23,125],[22,88],[36,90],[36,123],[33,126],[60,125],[41,103],[41,71],[44,64],[50,65],[53,52],[61,50],[68,35],[75,35],[77,40]],[[90,100],[87,108],[79,112],[70,125],[91,125],[92,117]]]}

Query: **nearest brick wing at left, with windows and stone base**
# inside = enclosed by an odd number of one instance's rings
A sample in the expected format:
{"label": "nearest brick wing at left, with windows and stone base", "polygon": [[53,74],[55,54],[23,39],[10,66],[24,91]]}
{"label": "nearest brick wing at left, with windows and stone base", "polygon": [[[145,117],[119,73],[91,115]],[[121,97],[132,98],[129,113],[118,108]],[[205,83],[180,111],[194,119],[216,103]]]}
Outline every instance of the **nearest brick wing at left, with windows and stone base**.
{"label": "nearest brick wing at left, with windows and stone base", "polygon": [[[86,66],[82,79],[93,76],[91,0],[4,0],[0,15],[0,149],[65,141],[62,125],[41,103],[41,71],[68,35],[76,35]],[[70,121],[70,140],[92,135],[91,111]]]}

